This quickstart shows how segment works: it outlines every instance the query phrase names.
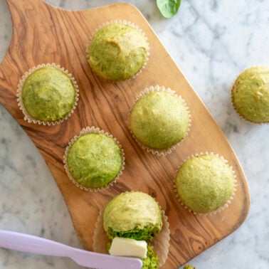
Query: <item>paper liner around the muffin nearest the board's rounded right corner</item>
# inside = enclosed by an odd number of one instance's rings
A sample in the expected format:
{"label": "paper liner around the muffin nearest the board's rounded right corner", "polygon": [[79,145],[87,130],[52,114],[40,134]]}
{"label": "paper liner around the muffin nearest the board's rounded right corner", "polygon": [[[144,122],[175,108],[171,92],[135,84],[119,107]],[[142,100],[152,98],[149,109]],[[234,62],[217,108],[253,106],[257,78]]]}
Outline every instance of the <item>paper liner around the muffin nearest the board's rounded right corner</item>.
{"label": "paper liner around the muffin nearest the board's rounded right corner", "polygon": [[[191,154],[191,156],[189,156],[188,158],[184,159],[183,162],[181,162],[181,164],[179,165],[179,169],[182,166],[182,164],[184,164],[184,162],[186,162],[187,160],[194,158],[194,157],[198,157],[201,155],[214,155],[218,158],[220,158],[227,166],[228,166],[228,161],[226,159],[223,158],[223,156],[220,156],[219,154],[214,154],[213,152],[200,152],[200,153],[196,153],[196,154]],[[236,195],[236,190],[237,190],[237,180],[236,180],[236,173],[233,171],[233,167],[228,166],[228,168],[231,170],[232,174],[233,174],[233,194],[231,194],[230,198],[228,199],[228,201],[226,201],[225,204],[223,204],[223,206],[220,206],[218,209],[210,211],[208,213],[198,213],[193,211],[192,209],[189,209],[188,206],[186,206],[180,199],[179,195],[177,194],[177,190],[176,190],[176,176],[174,176],[174,192],[176,194],[176,198],[179,200],[179,202],[181,203],[182,206],[184,206],[185,209],[187,209],[189,212],[194,213],[194,215],[197,216],[214,216],[216,215],[216,213],[220,213],[221,211],[223,211],[224,209],[227,209],[229,204],[231,204],[231,201],[233,200],[234,196]],[[176,175],[179,172],[179,169],[176,170]]]}

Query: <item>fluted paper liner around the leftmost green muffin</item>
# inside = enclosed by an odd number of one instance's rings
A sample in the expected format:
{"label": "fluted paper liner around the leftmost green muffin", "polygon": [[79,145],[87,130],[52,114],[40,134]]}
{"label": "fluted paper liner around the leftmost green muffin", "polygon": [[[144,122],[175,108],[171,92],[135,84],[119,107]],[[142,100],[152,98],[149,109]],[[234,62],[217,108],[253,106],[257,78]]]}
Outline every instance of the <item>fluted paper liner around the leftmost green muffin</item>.
{"label": "fluted paper liner around the leftmost green muffin", "polygon": [[[26,81],[26,79],[28,78],[29,75],[31,75],[33,72],[35,72],[36,70],[43,68],[43,67],[53,67],[53,68],[57,68],[58,70],[61,70],[62,72],[64,72],[66,75],[68,75],[68,77],[72,80],[74,88],[75,88],[75,103],[73,105],[72,110],[68,113],[68,115],[66,115],[65,117],[63,117],[63,119],[57,120],[55,122],[43,122],[41,120],[36,120],[33,117],[31,117],[31,115],[28,114],[28,112],[26,111],[24,105],[23,105],[23,100],[22,100],[22,90],[23,90],[23,85]],[[70,115],[74,112],[75,107],[78,105],[78,97],[79,97],[79,90],[78,90],[78,83],[75,81],[75,78],[73,77],[73,75],[71,73],[68,72],[68,70],[65,70],[64,68],[61,68],[60,65],[56,65],[56,63],[43,63],[41,65],[36,65],[33,68],[29,69],[21,78],[21,80],[19,81],[18,84],[18,88],[17,88],[17,101],[18,101],[18,105],[19,105],[19,109],[23,112],[24,115],[24,120],[33,123],[37,123],[38,125],[57,125],[60,122],[63,122],[64,120],[67,120],[68,117],[70,117]]]}

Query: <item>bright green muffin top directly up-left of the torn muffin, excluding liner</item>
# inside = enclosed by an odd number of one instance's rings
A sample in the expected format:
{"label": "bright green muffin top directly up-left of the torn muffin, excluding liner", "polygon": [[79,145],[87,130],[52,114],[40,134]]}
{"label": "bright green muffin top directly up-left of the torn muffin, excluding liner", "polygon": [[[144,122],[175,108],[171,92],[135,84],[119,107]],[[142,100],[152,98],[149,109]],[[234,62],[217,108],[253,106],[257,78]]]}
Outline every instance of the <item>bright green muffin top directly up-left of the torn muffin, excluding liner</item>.
{"label": "bright green muffin top directly up-left of the torn muffin, excluding liner", "polygon": [[90,189],[106,186],[120,173],[120,147],[106,135],[83,135],[71,145],[67,167],[73,179],[81,186]]}

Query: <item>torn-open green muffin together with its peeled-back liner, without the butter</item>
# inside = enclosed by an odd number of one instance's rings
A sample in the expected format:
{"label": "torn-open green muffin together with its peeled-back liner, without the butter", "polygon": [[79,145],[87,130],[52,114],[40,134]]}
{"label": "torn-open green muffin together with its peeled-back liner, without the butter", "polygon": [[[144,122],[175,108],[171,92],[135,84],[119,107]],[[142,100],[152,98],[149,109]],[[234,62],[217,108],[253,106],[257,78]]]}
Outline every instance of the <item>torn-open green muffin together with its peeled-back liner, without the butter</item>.
{"label": "torn-open green muffin together with its peeled-back liner, without the butter", "polygon": [[100,212],[95,225],[93,250],[107,253],[113,238],[147,242],[142,268],[159,268],[167,260],[169,223],[152,196],[130,191],[115,196]]}

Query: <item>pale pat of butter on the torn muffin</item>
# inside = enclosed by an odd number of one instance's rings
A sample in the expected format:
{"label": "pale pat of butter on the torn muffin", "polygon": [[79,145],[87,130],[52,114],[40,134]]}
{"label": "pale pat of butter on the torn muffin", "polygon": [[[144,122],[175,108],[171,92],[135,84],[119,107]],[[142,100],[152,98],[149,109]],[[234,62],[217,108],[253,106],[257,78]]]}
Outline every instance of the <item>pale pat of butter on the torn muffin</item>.
{"label": "pale pat of butter on the torn muffin", "polygon": [[136,258],[147,257],[147,242],[130,238],[115,237],[109,250],[110,255]]}

